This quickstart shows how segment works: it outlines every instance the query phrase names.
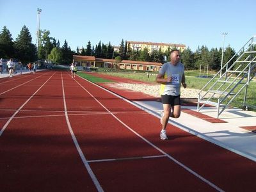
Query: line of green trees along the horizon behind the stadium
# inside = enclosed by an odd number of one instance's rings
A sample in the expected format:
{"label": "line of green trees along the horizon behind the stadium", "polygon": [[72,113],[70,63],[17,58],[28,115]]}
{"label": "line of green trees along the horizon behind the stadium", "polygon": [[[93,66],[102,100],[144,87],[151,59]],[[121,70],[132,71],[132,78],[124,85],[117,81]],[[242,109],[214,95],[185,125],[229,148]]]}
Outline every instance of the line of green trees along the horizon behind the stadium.
{"label": "line of green trees along the horizon behind the stadium", "polygon": [[[14,41],[12,34],[6,26],[3,27],[0,33],[0,57],[17,58],[22,61],[22,63],[47,60],[56,64],[68,65],[72,63],[72,56],[74,54],[95,56],[96,58],[164,63],[166,60],[170,60],[169,57],[172,49],[177,49],[177,47],[172,47],[165,52],[159,49],[151,53],[149,53],[147,49],[134,51],[124,40],[121,41],[118,52],[114,51],[114,46],[111,45],[111,42],[104,44],[99,41],[99,44],[93,46],[89,40],[84,47],[81,47],[81,49],[77,47],[76,51],[72,51],[68,46],[67,40],[65,40],[64,44],[60,47],[60,41],[51,37],[49,30],[40,30],[38,50],[36,50],[36,45],[32,43],[31,34],[26,26],[23,26]],[[228,45],[223,52],[223,64],[227,63],[227,61],[236,54],[236,51],[234,51],[230,45]],[[220,70],[221,55],[221,48],[212,48],[209,50],[206,45],[202,45],[202,47],[198,47],[196,51],[193,52],[187,47],[182,52],[181,61],[184,63],[186,70],[198,69],[200,67],[207,67],[209,70]],[[164,60],[164,58],[166,58],[166,60]]]}

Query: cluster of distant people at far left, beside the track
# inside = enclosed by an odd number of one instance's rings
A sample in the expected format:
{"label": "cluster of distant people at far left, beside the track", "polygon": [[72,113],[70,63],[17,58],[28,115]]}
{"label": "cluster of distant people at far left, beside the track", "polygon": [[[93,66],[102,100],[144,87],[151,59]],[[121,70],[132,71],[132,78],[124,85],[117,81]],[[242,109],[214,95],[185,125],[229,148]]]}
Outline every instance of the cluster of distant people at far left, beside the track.
{"label": "cluster of distant people at far left, beside the track", "polygon": [[[16,72],[15,72],[15,63],[13,62],[13,59],[10,58],[10,60],[6,63],[6,65],[7,65],[7,68],[8,68],[9,77],[13,77],[13,74],[14,73],[16,74]],[[21,62],[19,62],[19,65],[20,65],[20,74],[22,74],[23,65],[22,65]],[[32,68],[33,68],[33,73],[35,74],[35,72],[36,72],[36,64],[35,63],[32,64],[32,63],[29,62],[27,67],[28,67],[29,72],[32,72]],[[0,72],[3,73],[2,59],[1,59],[1,62],[0,62]]]}

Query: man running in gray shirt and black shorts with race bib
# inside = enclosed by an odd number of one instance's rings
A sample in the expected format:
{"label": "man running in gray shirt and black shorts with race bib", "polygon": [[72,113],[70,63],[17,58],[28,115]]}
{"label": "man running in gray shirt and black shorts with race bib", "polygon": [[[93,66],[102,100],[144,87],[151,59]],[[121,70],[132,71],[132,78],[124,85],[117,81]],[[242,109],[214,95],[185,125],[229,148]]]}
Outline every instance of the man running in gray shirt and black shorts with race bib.
{"label": "man running in gray shirt and black shorts with race bib", "polygon": [[161,140],[168,140],[166,125],[168,124],[169,116],[173,118],[179,118],[180,116],[180,84],[184,88],[187,86],[184,65],[180,63],[180,51],[175,49],[171,51],[170,56],[171,61],[163,64],[156,77],[156,82],[161,83],[160,93],[163,103]]}

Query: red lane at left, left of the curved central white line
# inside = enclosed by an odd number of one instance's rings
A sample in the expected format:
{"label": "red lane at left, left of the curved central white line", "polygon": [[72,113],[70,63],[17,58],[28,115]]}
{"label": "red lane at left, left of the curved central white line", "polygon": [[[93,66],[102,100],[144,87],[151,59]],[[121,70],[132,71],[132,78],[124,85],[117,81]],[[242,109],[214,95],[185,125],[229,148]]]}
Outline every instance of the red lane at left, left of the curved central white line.
{"label": "red lane at left, left of the curved central white line", "polygon": [[[45,115],[49,109],[64,111],[61,74],[54,75],[24,109],[37,109],[36,115]],[[1,191],[96,191],[64,112],[63,116],[45,117],[31,112],[30,118],[19,118],[28,115],[24,113],[28,111],[20,111],[0,137]]]}

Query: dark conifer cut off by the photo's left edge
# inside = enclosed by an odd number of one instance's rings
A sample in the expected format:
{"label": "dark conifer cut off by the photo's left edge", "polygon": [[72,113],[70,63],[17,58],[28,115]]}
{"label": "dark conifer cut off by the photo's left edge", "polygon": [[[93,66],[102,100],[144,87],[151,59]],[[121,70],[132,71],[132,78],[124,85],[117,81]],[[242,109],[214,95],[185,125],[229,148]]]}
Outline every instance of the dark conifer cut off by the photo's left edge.
{"label": "dark conifer cut off by the photo's left edge", "polygon": [[0,33],[0,58],[13,58],[14,47],[12,41],[12,34],[6,28],[3,27]]}

